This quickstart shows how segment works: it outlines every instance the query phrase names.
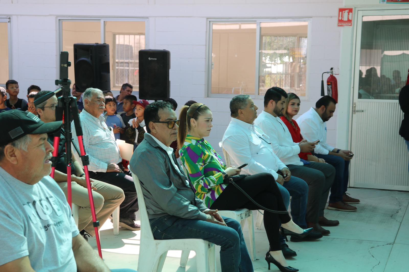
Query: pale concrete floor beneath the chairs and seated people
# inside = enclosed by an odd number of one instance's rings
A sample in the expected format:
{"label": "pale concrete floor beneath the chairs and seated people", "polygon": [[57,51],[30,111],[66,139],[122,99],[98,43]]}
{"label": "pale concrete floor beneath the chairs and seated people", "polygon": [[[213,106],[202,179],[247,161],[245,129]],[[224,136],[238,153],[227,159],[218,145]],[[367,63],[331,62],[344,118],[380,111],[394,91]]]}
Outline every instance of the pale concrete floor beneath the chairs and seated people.
{"label": "pale concrete floor beneath the chairs and seated people", "polygon": [[[359,198],[356,212],[325,210],[328,219],[339,220],[336,227],[326,227],[331,234],[316,241],[288,242],[297,252],[287,259],[288,265],[301,272],[392,272],[409,271],[409,203],[408,192],[393,192],[350,188],[348,192]],[[255,213],[256,214],[256,213]],[[255,221],[255,220],[254,220]],[[243,234],[248,243],[247,223]],[[268,241],[264,226],[255,228],[256,261],[254,271],[267,270],[264,255]],[[119,235],[112,234],[112,224],[107,221],[101,228],[103,258],[111,268],[137,269],[140,231],[119,228]],[[96,249],[95,239],[89,243]],[[216,263],[220,269],[220,247],[216,247]],[[166,272],[195,272],[196,257],[191,252],[186,269],[179,267],[180,251],[169,251],[164,268]],[[272,265],[271,271],[279,271]]]}

